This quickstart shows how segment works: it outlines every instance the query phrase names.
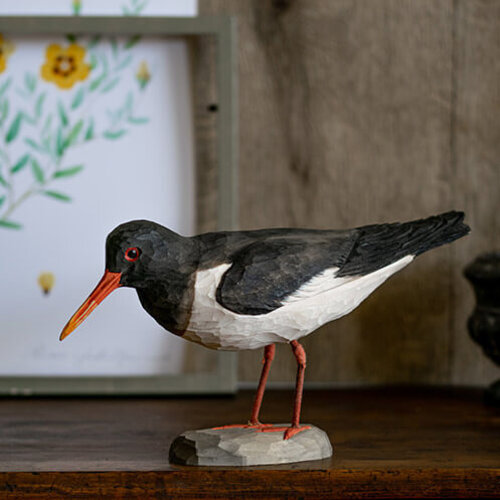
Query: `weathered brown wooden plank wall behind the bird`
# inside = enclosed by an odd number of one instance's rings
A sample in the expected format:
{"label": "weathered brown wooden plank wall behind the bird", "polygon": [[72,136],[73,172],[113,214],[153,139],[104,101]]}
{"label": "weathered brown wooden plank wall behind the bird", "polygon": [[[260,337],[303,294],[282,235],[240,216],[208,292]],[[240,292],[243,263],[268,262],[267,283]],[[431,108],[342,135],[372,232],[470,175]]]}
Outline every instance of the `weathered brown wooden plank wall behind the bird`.
{"label": "weathered brown wooden plank wall behind the bird", "polygon": [[[465,209],[421,256],[304,340],[308,382],[481,384],[462,268],[500,246],[500,2],[200,0],[239,23],[241,227],[346,228]],[[256,381],[260,352],[240,356]],[[287,346],[271,380],[292,382]]]}

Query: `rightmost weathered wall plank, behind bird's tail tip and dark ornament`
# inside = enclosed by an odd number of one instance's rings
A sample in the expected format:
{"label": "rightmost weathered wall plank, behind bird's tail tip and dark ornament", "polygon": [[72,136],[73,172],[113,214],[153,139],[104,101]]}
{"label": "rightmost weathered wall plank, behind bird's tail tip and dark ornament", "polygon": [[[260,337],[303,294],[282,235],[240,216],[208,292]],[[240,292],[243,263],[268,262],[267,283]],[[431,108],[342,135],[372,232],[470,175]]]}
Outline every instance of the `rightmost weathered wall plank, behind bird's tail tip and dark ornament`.
{"label": "rightmost weathered wall plank, behind bird's tail tip and dark ornament", "polygon": [[[453,192],[469,215],[474,236],[453,249],[454,262],[500,249],[500,2],[454,5],[455,71]],[[474,300],[455,269],[452,293],[452,381],[490,381],[499,370],[460,335]]]}

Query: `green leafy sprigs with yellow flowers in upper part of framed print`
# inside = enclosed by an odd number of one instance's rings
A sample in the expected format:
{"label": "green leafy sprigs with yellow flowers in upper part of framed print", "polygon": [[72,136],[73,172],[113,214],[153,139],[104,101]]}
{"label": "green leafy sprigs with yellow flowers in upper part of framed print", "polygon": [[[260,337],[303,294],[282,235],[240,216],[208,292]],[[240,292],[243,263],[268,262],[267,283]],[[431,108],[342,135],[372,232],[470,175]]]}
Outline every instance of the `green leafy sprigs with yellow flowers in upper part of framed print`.
{"label": "green leafy sprigs with yellow flowers in upper part of framed print", "polygon": [[151,79],[146,61],[134,65],[140,37],[67,39],[48,44],[38,71],[0,75],[0,229],[20,229],[16,211],[35,197],[72,200],[58,185],[85,166],[68,162],[68,152],[149,121],[137,114]]}

